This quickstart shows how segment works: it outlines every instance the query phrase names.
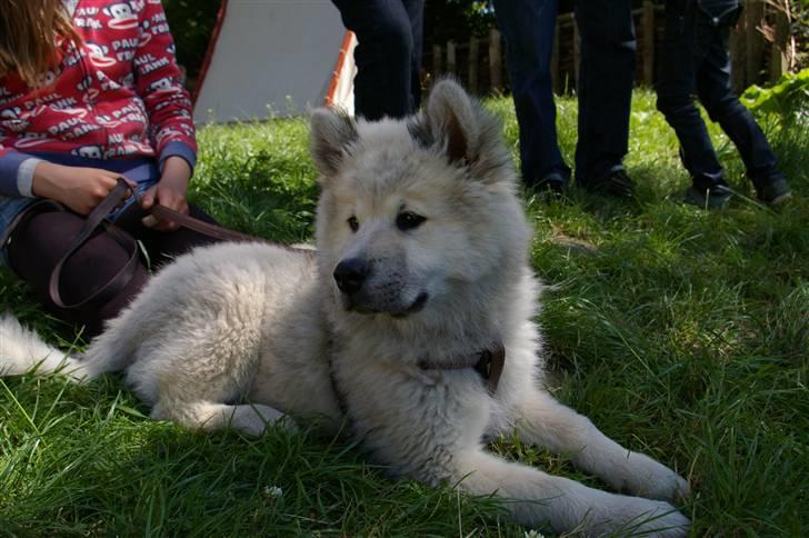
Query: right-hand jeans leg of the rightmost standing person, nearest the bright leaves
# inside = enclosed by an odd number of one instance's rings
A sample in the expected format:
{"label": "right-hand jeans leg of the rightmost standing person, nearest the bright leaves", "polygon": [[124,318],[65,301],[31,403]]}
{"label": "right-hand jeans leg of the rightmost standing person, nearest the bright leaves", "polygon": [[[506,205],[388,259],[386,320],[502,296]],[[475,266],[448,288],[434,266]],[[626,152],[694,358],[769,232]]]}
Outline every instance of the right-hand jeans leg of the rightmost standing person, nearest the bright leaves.
{"label": "right-hand jeans leg of the rightmost standing person, nearest the bright leaves", "polygon": [[[783,175],[777,169],[776,155],[767,137],[732,91],[729,32],[729,27],[710,28],[706,60],[697,74],[697,96],[710,118],[719,123],[736,145],[759,198],[777,202],[780,201],[778,198],[789,195],[789,188]],[[776,183],[777,189],[773,188]]]}

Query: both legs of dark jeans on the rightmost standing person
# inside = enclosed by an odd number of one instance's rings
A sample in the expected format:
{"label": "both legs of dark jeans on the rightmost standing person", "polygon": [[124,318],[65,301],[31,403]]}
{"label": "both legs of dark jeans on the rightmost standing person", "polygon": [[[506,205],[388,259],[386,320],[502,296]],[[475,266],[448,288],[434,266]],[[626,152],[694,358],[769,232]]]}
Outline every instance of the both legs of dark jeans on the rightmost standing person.
{"label": "both legs of dark jeans on the rightmost standing person", "polygon": [[696,0],[669,1],[666,6],[657,107],[675,129],[683,166],[699,190],[726,183],[708,129],[693,102],[695,93],[711,120],[736,145],[757,189],[781,177],[767,138],[731,89],[728,38],[733,22],[731,18],[712,23]]}

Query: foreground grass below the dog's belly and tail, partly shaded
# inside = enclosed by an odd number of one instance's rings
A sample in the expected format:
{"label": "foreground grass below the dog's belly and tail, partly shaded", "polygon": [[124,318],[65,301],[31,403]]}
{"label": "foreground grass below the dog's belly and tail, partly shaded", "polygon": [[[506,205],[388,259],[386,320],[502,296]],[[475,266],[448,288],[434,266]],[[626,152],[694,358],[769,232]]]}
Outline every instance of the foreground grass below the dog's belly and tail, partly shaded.
{"label": "foreground grass below the dog's belly and tail, partly shaded", "polygon": [[60,378],[0,383],[19,402],[0,406],[12,432],[0,441],[12,456],[0,471],[6,531],[446,536],[472,525],[519,536],[491,499],[388,479],[356,445],[317,431],[271,428],[253,439],[151,421],[116,376],[81,387]]}

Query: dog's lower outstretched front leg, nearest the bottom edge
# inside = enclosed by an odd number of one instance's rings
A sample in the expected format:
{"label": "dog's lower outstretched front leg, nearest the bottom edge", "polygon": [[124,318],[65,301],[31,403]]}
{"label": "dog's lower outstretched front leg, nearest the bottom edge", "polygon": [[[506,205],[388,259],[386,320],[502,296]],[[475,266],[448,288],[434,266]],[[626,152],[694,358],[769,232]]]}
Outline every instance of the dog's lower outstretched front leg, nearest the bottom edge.
{"label": "dog's lower outstretched front leg, nearest the bottom edge", "polygon": [[685,536],[688,529],[688,519],[668,502],[588,488],[482,450],[458,456],[453,461],[461,489],[473,495],[495,492],[513,518],[526,526],[549,526],[556,532],[588,536],[621,531],[676,537]]}

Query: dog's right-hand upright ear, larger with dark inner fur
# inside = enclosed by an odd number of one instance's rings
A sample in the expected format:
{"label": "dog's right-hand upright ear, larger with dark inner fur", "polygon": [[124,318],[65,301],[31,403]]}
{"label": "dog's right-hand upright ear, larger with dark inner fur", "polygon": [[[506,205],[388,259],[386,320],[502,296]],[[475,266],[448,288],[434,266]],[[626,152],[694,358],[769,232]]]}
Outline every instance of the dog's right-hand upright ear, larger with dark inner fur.
{"label": "dog's right-hand upright ear, larger with dark inner fur", "polygon": [[452,79],[436,83],[425,111],[409,124],[411,136],[425,147],[447,155],[452,163],[467,166],[471,177],[498,181],[510,160],[500,138],[500,122]]}

